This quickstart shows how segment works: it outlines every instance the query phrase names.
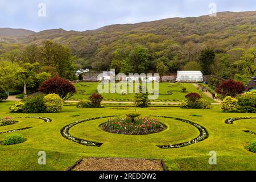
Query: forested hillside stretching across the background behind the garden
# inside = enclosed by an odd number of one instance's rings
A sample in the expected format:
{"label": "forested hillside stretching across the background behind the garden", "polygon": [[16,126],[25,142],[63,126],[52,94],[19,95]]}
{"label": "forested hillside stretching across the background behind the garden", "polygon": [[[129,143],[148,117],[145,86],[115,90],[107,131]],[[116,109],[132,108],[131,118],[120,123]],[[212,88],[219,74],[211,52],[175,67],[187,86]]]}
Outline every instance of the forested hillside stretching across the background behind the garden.
{"label": "forested hillside stretching across the background behind the garden", "polygon": [[244,84],[256,71],[256,11],[0,38],[0,84],[7,90],[33,90],[55,75],[77,80],[82,68],[160,76],[200,70]]}

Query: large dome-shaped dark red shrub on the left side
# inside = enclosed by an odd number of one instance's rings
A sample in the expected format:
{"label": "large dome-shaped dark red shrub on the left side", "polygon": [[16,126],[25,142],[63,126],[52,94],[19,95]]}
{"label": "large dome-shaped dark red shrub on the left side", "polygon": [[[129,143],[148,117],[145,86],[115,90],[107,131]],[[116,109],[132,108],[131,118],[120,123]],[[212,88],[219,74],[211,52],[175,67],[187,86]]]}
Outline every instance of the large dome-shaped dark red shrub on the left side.
{"label": "large dome-shaped dark red shrub on the left side", "polygon": [[45,94],[58,94],[65,101],[76,93],[76,88],[68,80],[61,77],[53,77],[42,82],[39,86],[39,91]]}

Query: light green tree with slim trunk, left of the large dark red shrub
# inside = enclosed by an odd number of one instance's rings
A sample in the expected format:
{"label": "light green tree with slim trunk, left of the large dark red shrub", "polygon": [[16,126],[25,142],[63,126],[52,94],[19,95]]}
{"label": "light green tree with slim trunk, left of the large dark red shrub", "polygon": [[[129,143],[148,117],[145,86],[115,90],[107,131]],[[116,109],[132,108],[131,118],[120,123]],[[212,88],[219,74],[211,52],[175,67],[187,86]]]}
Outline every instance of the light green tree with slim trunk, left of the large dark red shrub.
{"label": "light green tree with slim trunk, left of the large dark red shrub", "polygon": [[22,64],[20,69],[17,70],[16,75],[23,82],[23,93],[27,94],[27,83],[28,81],[33,82],[35,80],[36,71],[39,69],[39,63],[26,63]]}

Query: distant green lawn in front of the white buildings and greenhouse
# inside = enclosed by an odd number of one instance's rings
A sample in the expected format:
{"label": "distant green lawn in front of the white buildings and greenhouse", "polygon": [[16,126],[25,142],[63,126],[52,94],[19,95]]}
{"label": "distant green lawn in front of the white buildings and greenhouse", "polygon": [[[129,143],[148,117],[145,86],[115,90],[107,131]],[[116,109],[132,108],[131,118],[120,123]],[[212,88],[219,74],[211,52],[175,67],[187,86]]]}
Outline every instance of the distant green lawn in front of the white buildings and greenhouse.
{"label": "distant green lawn in front of the white buildings and greenhouse", "polygon": [[[74,84],[76,86],[77,93],[70,98],[70,100],[88,100],[88,97],[92,94],[97,92],[98,82],[79,82]],[[130,85],[129,87],[135,87]],[[127,91],[129,89],[127,87]],[[181,92],[181,89],[185,87],[187,91],[185,93]],[[109,85],[110,89],[110,85]],[[154,84],[152,86],[154,89]],[[171,91],[172,94],[168,94],[168,91]],[[203,98],[205,98],[209,102],[215,102],[212,98],[209,98],[202,94],[200,90],[197,90],[195,86],[189,83],[183,84],[172,84],[172,83],[159,83],[159,98],[157,100],[152,100],[152,102],[181,102],[186,100],[185,95],[189,92],[196,92],[200,93]],[[133,94],[102,94],[104,97],[104,101],[133,101]]]}

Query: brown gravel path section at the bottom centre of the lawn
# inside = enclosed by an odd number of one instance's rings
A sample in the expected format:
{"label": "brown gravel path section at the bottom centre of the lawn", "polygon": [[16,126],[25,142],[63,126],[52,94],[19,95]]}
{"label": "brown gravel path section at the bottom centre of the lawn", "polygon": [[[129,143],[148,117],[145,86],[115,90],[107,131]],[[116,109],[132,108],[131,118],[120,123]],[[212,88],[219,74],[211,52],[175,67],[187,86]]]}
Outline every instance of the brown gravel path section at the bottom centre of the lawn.
{"label": "brown gravel path section at the bottom centre of the lawn", "polygon": [[160,160],[87,158],[75,167],[76,171],[163,171]]}

